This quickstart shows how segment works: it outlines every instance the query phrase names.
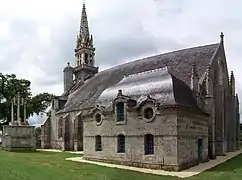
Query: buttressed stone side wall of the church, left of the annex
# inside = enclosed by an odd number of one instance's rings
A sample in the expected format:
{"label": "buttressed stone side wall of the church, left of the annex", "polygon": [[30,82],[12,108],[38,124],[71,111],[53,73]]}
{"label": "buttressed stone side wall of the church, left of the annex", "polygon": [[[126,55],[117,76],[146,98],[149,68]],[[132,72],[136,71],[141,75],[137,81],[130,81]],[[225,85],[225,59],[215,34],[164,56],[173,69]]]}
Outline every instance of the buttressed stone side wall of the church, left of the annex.
{"label": "buttressed stone side wall of the church, left of the annex", "polygon": [[[41,128],[41,148],[60,149],[80,151],[83,149],[83,132],[80,126],[81,118],[78,115],[79,111],[56,114],[56,110],[52,109],[50,116],[42,125]],[[79,113],[80,114],[80,113]],[[58,136],[59,120],[62,117],[62,136]],[[65,118],[63,118],[65,117]],[[65,133],[68,133],[69,138],[65,138]],[[68,147],[67,147],[68,145]]]}

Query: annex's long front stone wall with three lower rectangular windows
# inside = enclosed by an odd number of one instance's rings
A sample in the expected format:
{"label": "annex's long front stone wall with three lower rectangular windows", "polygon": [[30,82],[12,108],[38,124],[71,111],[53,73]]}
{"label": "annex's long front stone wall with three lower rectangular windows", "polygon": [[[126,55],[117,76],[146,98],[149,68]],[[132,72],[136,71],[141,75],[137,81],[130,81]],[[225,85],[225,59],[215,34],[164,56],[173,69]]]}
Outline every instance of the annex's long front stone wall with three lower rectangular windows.
{"label": "annex's long front stone wall with three lower rectangular windows", "polygon": [[[177,166],[176,110],[159,111],[152,122],[137,112],[127,112],[126,124],[116,124],[114,114],[105,115],[101,124],[92,117],[84,119],[84,158],[126,163]],[[117,136],[125,136],[125,153],[117,153]],[[145,155],[144,136],[154,136],[154,154]],[[95,151],[95,136],[102,137],[102,151]]]}

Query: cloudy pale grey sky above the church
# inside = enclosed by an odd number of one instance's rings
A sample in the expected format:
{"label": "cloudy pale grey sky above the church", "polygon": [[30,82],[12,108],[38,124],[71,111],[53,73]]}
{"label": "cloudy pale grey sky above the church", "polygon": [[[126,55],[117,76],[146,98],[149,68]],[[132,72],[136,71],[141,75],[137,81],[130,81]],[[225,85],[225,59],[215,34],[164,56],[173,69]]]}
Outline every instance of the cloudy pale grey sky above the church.
{"label": "cloudy pale grey sky above the church", "polygon": [[[32,82],[33,94],[63,92],[74,65],[82,0],[0,0],[0,72]],[[220,41],[242,96],[241,0],[86,0],[100,70],[141,57]],[[241,111],[242,112],[242,111]],[[31,118],[41,124],[44,117]]]}

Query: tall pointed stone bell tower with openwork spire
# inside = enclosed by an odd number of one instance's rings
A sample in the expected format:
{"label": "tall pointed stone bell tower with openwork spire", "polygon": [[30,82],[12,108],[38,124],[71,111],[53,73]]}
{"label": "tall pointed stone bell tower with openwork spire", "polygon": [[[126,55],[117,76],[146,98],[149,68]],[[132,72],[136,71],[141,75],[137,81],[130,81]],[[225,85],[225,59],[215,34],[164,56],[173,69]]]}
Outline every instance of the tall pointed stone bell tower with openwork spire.
{"label": "tall pointed stone bell tower with openwork spire", "polygon": [[77,81],[85,81],[85,79],[98,72],[98,67],[95,67],[95,48],[93,46],[92,35],[89,33],[85,1],[83,1],[82,6],[80,32],[77,36],[75,58],[76,67],[74,68],[74,74]]}

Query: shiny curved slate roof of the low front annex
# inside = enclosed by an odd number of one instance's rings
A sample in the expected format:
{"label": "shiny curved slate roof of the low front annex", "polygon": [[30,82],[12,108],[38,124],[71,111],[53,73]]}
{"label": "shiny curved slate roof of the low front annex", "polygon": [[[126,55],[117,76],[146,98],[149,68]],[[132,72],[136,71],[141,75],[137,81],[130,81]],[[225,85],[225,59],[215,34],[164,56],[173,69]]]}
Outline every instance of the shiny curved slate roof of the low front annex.
{"label": "shiny curved slate roof of the low front annex", "polygon": [[190,87],[172,76],[167,67],[125,76],[119,83],[102,92],[98,104],[112,109],[112,102],[117,98],[119,90],[138,105],[149,95],[160,105],[182,105],[198,109]]}

